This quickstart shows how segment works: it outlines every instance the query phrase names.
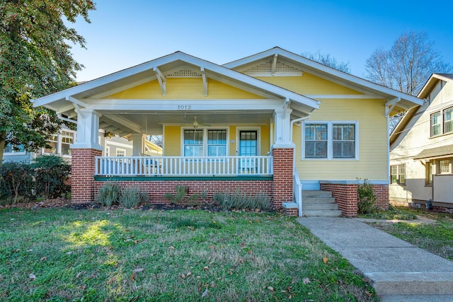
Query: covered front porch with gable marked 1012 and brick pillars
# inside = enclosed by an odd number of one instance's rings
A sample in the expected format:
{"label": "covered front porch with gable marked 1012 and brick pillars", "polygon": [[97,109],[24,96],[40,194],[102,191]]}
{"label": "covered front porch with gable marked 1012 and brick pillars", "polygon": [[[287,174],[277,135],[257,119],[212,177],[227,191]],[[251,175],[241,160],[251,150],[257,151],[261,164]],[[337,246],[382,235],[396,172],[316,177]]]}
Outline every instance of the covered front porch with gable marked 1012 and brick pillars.
{"label": "covered front porch with gable marked 1012 and brick pillars", "polygon": [[[185,185],[208,196],[216,190],[266,192],[275,208],[293,201],[292,126],[319,108],[304,95],[182,52],[35,105],[77,125],[73,202],[92,202],[113,181],[146,190],[151,202]],[[99,129],[130,139],[132,156],[107,156]],[[163,137],[163,156],[143,156],[149,135]]]}

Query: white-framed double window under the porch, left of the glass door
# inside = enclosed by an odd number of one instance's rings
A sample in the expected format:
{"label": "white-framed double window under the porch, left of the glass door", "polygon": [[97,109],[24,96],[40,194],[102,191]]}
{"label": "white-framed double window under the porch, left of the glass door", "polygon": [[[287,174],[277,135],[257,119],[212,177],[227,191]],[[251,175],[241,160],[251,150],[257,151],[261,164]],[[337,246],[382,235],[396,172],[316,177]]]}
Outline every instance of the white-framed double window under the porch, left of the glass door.
{"label": "white-framed double window under the porch, left of the glass door", "polygon": [[226,156],[226,129],[183,129],[184,156]]}

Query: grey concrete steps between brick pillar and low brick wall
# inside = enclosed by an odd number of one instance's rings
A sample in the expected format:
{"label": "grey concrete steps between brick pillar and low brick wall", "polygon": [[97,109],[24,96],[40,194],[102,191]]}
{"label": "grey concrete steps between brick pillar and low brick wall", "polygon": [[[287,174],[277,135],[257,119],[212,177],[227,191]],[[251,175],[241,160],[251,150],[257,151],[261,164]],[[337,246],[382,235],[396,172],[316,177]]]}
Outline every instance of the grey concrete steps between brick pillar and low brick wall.
{"label": "grey concrete steps between brick pillar and low brick wall", "polygon": [[338,204],[332,197],[332,192],[321,190],[302,191],[303,216],[341,216]]}

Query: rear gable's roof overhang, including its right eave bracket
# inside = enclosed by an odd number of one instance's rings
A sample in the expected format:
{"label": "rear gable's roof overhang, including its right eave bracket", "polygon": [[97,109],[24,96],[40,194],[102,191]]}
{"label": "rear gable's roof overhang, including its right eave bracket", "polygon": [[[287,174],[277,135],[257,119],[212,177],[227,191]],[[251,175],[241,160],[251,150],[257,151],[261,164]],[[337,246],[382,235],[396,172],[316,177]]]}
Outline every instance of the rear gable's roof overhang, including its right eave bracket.
{"label": "rear gable's roof overhang, including its right eave bracket", "polygon": [[399,108],[399,111],[401,112],[409,110],[415,105],[423,104],[423,100],[420,100],[415,96],[408,95],[406,93],[402,93],[401,91],[396,91],[394,89],[387,88],[376,83],[372,83],[357,76],[353,76],[352,74],[347,74],[343,71],[339,71],[338,69],[333,69],[311,59],[307,59],[306,57],[302,57],[299,54],[294,54],[293,52],[283,50],[280,47],[274,47],[270,50],[266,50],[258,54],[253,54],[249,57],[224,64],[223,66],[237,71],[244,71],[249,66],[256,64],[256,62],[258,61],[265,61],[273,59],[274,57],[282,58],[289,64],[299,66],[303,71],[314,74],[315,76],[320,76],[321,78],[328,81],[340,83],[343,86],[348,86],[349,88],[352,88],[356,91],[361,91],[364,94],[380,95],[382,96],[382,98],[386,98],[389,101],[395,100],[394,103],[396,103],[396,107]]}

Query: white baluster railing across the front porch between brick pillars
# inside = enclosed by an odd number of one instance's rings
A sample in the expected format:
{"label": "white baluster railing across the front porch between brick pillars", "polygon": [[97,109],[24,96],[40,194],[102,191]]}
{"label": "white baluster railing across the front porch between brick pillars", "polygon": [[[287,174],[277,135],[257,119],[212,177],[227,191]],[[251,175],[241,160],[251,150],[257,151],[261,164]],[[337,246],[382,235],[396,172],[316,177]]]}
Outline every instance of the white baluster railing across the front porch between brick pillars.
{"label": "white baluster railing across the front porch between brick pillars", "polygon": [[273,175],[273,157],[96,156],[95,168],[104,176]]}

